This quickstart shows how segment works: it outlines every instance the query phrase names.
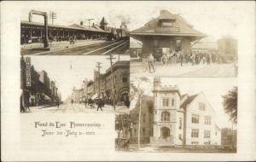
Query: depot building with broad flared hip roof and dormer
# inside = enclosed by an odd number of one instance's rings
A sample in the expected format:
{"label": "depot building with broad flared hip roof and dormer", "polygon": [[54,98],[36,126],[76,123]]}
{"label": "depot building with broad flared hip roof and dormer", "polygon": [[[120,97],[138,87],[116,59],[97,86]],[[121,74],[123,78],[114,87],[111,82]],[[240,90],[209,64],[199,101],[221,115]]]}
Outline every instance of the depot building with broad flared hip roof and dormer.
{"label": "depot building with broad flared hip roof and dormer", "polygon": [[130,36],[143,43],[143,58],[153,54],[157,60],[163,53],[170,53],[172,50],[189,55],[191,42],[206,37],[179,14],[172,14],[167,10],[160,10],[160,16],[132,31]]}

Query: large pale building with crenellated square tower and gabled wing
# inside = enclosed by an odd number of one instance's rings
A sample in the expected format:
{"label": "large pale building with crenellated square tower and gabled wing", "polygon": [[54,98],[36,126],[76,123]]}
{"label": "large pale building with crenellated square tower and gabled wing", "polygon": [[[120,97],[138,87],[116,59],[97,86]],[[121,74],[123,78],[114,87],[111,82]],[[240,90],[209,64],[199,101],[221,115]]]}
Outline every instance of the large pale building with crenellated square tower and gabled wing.
{"label": "large pale building with crenellated square tower and gabled wing", "polygon": [[[161,86],[154,78],[154,96],[143,95],[141,143],[155,146],[221,145],[216,114],[203,92],[181,95],[178,87]],[[137,143],[139,103],[131,110],[131,142]]]}

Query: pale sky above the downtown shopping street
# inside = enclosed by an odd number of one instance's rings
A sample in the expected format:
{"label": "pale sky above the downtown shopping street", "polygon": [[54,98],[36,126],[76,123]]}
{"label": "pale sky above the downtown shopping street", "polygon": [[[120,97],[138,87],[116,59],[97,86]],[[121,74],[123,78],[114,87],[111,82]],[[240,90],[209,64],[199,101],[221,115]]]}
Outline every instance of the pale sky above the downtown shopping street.
{"label": "pale sky above the downtown shopping street", "polygon": [[[113,55],[118,60],[118,55]],[[93,80],[96,62],[102,62],[101,73],[110,67],[108,55],[86,55],[86,56],[30,56],[32,66],[37,72],[42,70],[48,73],[49,79],[56,82],[61,98],[65,101],[72,94],[73,87],[82,88],[83,80]],[[129,61],[129,56],[120,55],[120,61]]]}

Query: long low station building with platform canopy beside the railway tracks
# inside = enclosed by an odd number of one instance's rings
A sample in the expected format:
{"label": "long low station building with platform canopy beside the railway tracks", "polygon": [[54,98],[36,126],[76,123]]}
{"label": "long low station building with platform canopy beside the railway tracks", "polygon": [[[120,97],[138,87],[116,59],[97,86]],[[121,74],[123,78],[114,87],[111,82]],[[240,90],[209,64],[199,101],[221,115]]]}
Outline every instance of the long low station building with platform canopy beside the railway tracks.
{"label": "long low station building with platform canopy beside the railway tracks", "polygon": [[[80,24],[73,24],[71,26],[48,25],[49,39],[67,41],[70,37],[77,39],[96,39],[107,38],[111,31],[103,30],[104,26],[93,24],[92,26],[84,26],[83,22]],[[44,40],[44,23],[30,22],[21,20],[20,23],[20,43],[41,43]]]}

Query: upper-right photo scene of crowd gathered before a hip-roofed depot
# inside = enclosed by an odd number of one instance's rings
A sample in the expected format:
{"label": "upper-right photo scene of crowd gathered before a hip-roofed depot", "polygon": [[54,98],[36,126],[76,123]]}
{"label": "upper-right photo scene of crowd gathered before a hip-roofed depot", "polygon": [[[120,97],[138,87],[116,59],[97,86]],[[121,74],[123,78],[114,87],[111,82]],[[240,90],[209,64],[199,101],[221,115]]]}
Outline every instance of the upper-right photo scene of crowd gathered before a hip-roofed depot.
{"label": "upper-right photo scene of crowd gathered before a hip-roofed depot", "polygon": [[[200,32],[198,28],[205,31]],[[211,33],[210,28],[207,24],[194,27],[181,14],[161,9],[156,18],[130,32],[131,74],[236,77],[236,38],[230,31],[221,31],[221,35],[217,35]]]}

